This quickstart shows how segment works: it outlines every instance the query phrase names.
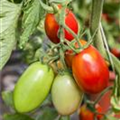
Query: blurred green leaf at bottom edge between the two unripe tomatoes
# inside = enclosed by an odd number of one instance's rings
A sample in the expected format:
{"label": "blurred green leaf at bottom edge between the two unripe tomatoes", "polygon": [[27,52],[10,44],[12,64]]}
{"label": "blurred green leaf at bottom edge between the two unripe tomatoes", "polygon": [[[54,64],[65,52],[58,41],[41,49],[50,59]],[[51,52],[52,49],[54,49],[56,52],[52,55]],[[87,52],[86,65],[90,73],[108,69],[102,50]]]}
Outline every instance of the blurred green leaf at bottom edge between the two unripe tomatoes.
{"label": "blurred green leaf at bottom edge between the two unripe tomatoes", "polygon": [[36,120],[54,120],[58,116],[58,113],[54,108],[45,108],[42,114],[37,117]]}

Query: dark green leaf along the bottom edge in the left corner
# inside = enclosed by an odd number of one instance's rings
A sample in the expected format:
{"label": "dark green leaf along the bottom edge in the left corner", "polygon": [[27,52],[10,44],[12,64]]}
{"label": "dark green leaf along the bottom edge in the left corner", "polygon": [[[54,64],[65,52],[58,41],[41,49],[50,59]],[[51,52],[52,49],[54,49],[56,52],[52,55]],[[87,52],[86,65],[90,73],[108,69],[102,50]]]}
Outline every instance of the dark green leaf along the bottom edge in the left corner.
{"label": "dark green leaf along the bottom edge in the left corner", "polygon": [[18,114],[18,113],[16,113],[16,114],[5,114],[3,116],[3,118],[4,118],[4,120],[34,120],[27,115]]}

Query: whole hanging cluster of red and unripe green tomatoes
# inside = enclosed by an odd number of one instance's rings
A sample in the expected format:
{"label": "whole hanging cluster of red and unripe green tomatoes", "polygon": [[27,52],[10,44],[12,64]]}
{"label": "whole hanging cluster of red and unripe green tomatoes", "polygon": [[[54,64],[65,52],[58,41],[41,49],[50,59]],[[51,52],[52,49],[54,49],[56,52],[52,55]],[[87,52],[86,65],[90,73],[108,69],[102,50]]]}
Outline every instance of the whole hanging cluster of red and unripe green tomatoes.
{"label": "whole hanging cluster of red and unripe green tomatoes", "polygon": [[[75,15],[69,9],[65,12],[65,24],[77,34],[78,22]],[[58,16],[59,13],[48,13],[45,18],[46,35],[56,44],[60,43]],[[74,40],[73,35],[66,29],[64,29],[64,35],[66,40]],[[80,40],[81,47],[86,43],[85,40]],[[78,42],[75,42],[74,47],[78,49]],[[109,69],[99,51],[90,45],[71,55],[73,52],[73,50],[67,50],[64,54],[72,75],[64,72],[63,75],[58,73],[55,76],[54,70],[48,64],[41,62],[35,62],[28,67],[14,90],[14,104],[18,112],[36,109],[51,92],[53,104],[59,114],[70,115],[78,109],[84,93],[100,93],[107,87]],[[94,114],[86,110],[85,106],[81,108],[80,120],[88,120],[84,111],[87,111],[89,120],[93,120]],[[100,116],[97,118],[100,120]]]}

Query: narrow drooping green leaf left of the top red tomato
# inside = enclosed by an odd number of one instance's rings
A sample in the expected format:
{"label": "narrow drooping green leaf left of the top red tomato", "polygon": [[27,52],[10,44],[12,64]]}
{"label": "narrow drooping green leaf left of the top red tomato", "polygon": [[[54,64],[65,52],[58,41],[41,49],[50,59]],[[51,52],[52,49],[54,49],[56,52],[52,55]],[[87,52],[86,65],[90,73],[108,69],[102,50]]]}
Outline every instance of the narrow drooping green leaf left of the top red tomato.
{"label": "narrow drooping green leaf left of the top red tomato", "polygon": [[22,20],[23,33],[20,38],[20,47],[23,48],[28,41],[30,35],[39,25],[45,14],[44,9],[41,7],[39,0],[30,1],[25,9]]}

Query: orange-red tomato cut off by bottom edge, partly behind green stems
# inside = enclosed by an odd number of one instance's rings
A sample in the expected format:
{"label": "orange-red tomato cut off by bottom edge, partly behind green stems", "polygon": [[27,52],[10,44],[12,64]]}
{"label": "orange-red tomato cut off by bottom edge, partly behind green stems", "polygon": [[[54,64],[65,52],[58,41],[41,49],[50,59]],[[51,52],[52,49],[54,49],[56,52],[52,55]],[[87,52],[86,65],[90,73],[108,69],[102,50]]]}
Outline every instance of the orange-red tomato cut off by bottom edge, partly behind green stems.
{"label": "orange-red tomato cut off by bottom edge, partly behind green stems", "polygon": [[[97,104],[95,108],[97,112],[102,112],[102,108],[99,104]],[[102,115],[97,115],[96,120],[102,120],[102,117]],[[87,108],[86,104],[84,104],[79,110],[79,120],[95,120],[95,114]]]}

